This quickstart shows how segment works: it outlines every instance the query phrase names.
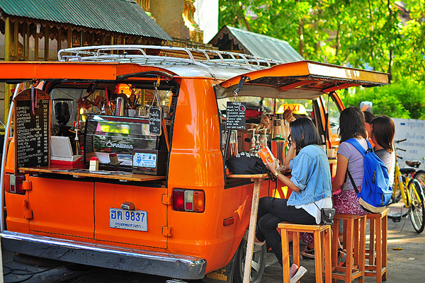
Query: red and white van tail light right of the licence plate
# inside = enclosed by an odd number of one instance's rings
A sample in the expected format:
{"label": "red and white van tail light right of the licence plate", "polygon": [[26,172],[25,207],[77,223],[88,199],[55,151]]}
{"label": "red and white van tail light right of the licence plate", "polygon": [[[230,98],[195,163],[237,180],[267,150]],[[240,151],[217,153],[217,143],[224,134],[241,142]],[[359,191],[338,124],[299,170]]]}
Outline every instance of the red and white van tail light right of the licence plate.
{"label": "red and white van tail light right of the licence plate", "polygon": [[173,190],[173,209],[180,212],[204,212],[205,192],[202,190]]}

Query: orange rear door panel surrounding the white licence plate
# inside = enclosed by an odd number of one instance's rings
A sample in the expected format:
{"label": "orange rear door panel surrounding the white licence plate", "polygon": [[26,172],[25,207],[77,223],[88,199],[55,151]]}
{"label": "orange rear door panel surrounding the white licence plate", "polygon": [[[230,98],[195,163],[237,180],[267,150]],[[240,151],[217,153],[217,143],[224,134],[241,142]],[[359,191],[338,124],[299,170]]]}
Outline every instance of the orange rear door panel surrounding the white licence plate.
{"label": "orange rear door panel surrounding the white licence plate", "polygon": [[[95,238],[97,241],[166,248],[166,205],[162,204],[165,187],[141,187],[97,182],[94,186]],[[120,208],[124,202],[135,204],[135,210],[147,212],[147,231],[111,228],[109,208]],[[104,243],[104,242],[103,242]]]}

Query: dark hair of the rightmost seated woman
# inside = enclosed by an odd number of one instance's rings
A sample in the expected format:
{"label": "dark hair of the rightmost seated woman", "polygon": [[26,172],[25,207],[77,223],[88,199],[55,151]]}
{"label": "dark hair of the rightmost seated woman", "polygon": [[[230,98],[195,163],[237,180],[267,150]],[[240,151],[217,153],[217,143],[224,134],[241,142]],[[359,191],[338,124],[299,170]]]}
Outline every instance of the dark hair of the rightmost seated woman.
{"label": "dark hair of the rightmost seated woman", "polygon": [[388,116],[377,116],[372,120],[372,134],[376,142],[389,152],[392,152],[392,140],[395,125]]}

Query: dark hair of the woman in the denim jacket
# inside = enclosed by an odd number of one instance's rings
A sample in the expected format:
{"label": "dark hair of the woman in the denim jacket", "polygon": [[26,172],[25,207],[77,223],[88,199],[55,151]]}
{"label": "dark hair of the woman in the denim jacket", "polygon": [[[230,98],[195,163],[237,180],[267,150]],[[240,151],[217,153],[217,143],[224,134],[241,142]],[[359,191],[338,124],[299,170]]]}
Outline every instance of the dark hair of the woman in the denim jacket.
{"label": "dark hair of the woman in the denim jacket", "polygon": [[297,151],[310,144],[320,145],[320,136],[310,118],[300,117],[290,122],[290,137],[297,144]]}

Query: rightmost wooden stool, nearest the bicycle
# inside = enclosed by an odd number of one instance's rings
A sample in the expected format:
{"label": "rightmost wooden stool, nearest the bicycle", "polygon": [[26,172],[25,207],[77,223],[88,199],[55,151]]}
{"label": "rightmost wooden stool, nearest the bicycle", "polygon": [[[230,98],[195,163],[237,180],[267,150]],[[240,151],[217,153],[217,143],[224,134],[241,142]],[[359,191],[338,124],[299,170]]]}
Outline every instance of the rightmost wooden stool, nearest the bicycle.
{"label": "rightmost wooden stool, nearest the bicycle", "polygon": [[369,249],[366,249],[369,264],[365,265],[365,276],[376,277],[376,282],[378,283],[387,280],[387,214],[389,211],[390,209],[387,208],[381,213],[367,215],[367,219],[370,220],[370,238]]}

